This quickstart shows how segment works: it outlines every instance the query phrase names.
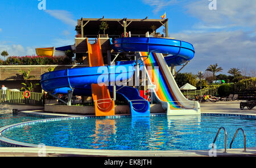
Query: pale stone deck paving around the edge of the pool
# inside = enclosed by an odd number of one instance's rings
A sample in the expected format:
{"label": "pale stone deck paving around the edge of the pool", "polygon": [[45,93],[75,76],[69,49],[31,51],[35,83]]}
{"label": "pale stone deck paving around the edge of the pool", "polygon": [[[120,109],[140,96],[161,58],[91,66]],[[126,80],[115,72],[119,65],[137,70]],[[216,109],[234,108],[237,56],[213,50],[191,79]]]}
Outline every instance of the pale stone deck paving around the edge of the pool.
{"label": "pale stone deck paving around the edge of the pool", "polygon": [[[243,114],[256,115],[256,108],[248,110],[240,110],[241,101],[220,101],[201,103],[201,113],[222,113],[222,114]],[[24,113],[46,114],[42,110],[26,110]],[[81,115],[68,114],[52,114],[49,115],[64,115],[65,117],[74,117]],[[40,148],[0,148],[0,157],[38,157]],[[216,156],[254,156],[256,157],[256,147],[243,149],[217,149]],[[73,156],[105,156],[105,157],[209,157],[209,150],[98,150],[98,149],[73,149],[73,148],[55,148],[46,147],[47,157],[73,157]]]}

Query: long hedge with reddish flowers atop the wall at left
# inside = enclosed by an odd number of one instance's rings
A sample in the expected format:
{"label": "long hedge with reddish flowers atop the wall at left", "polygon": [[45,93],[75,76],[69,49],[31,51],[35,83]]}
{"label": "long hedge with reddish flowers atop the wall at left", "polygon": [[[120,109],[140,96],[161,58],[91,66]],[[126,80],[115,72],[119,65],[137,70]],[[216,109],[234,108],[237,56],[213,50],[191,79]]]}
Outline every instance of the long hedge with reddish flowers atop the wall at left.
{"label": "long hedge with reddish flowers atop the wall at left", "polygon": [[69,64],[67,58],[64,57],[48,57],[48,56],[23,56],[8,57],[5,61],[0,59],[0,65],[44,65],[44,64]]}

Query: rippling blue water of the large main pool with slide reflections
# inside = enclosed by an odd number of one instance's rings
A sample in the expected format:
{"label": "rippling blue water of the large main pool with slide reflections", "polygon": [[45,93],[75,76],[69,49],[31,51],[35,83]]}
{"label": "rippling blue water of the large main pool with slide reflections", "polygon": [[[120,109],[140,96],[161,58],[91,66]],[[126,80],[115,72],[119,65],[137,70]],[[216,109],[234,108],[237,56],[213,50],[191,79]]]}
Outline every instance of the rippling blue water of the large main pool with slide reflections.
{"label": "rippling blue water of the large main pool with slide reflections", "polygon": [[[210,149],[218,128],[225,127],[228,147],[238,127],[246,133],[246,147],[256,147],[256,120],[231,116],[88,118],[36,123],[13,128],[3,135],[11,140],[55,147],[115,150]],[[224,131],[217,149],[224,148]],[[232,148],[243,148],[238,132]]]}

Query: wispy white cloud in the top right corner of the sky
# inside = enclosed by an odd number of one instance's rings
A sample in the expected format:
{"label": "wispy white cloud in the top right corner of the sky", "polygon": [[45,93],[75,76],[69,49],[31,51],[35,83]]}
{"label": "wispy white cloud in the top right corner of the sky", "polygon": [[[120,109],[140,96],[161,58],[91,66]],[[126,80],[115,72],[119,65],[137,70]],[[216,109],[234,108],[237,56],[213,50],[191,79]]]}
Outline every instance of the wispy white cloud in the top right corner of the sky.
{"label": "wispy white cloud in the top right corner of the sky", "polygon": [[185,8],[189,14],[202,20],[205,25],[256,26],[255,0],[217,0],[216,2],[217,10],[209,10],[210,1],[206,0],[188,3]]}

